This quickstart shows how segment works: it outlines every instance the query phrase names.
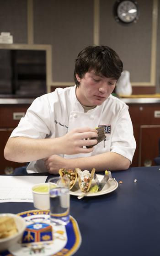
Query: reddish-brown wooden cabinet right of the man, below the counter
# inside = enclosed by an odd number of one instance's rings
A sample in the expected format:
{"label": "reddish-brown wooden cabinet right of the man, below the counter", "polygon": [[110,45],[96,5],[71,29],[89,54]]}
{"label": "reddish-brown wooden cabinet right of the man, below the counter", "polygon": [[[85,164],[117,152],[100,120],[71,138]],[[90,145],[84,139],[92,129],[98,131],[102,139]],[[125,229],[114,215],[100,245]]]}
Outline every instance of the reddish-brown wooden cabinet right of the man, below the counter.
{"label": "reddish-brown wooden cabinet right of the man, below the counter", "polygon": [[155,165],[159,155],[160,104],[127,104],[133,123],[137,148],[131,166]]}

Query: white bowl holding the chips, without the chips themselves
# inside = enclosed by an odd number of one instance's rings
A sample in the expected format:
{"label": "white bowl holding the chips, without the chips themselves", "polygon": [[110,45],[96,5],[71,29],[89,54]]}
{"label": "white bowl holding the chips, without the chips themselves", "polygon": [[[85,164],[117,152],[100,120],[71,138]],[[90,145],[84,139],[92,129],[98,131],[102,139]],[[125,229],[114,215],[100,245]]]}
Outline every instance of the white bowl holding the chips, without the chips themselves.
{"label": "white bowl holding the chips, without the chips themselves", "polygon": [[0,217],[9,216],[15,220],[18,232],[6,238],[0,239],[0,251],[7,250],[11,245],[21,240],[24,230],[26,229],[26,221],[21,216],[12,213],[0,213]]}

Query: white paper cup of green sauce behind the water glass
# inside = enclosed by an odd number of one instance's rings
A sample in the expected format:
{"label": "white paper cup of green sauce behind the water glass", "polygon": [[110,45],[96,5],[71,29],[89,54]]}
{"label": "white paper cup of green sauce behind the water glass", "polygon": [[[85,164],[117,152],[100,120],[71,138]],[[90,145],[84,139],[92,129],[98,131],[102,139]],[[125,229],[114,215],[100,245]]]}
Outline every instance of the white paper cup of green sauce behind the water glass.
{"label": "white paper cup of green sauce behind the water glass", "polygon": [[[48,188],[48,192],[41,192],[41,188]],[[48,183],[39,183],[32,187],[33,204],[34,207],[40,210],[47,210],[50,208],[49,203],[49,186]]]}

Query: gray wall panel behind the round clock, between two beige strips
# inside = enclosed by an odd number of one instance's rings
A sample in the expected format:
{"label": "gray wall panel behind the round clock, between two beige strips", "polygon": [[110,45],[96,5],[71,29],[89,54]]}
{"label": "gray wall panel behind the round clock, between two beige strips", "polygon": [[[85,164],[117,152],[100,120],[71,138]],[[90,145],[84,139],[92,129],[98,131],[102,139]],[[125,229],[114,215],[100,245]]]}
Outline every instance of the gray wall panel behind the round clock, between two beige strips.
{"label": "gray wall panel behind the round clock, between two beige strips", "polygon": [[112,15],[114,2],[101,0],[100,42],[119,53],[124,69],[130,71],[132,81],[149,81],[152,0],[138,0],[141,10],[139,21],[128,26],[120,25],[114,20]]}

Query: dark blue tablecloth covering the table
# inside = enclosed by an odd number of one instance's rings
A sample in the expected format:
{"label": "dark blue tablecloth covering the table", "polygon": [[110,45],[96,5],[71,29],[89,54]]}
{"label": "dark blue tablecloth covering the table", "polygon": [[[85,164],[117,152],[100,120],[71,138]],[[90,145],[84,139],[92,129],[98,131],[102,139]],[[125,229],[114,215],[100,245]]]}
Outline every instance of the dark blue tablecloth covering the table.
{"label": "dark blue tablecloth covering the table", "polygon": [[[82,235],[75,256],[159,256],[160,166],[112,171],[112,177],[122,182],[109,194],[71,196],[70,214]],[[0,213],[30,209],[33,203],[0,203]]]}

